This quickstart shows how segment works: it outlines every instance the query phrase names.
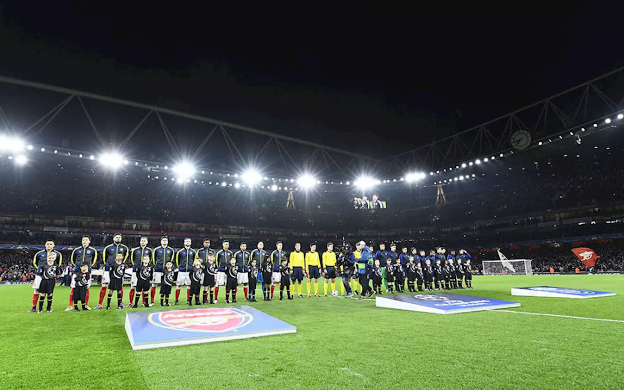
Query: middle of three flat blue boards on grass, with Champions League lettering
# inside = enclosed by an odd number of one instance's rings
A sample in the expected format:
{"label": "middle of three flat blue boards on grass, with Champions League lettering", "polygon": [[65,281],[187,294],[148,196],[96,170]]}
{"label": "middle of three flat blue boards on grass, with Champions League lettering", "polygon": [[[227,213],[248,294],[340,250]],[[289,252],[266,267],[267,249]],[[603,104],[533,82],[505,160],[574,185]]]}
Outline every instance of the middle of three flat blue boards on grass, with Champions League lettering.
{"label": "middle of three flat blue boards on grass, with Champions League lettering", "polygon": [[377,296],[375,306],[381,308],[422,311],[424,313],[456,314],[467,311],[517,308],[520,303],[493,300],[479,296],[452,293]]}

